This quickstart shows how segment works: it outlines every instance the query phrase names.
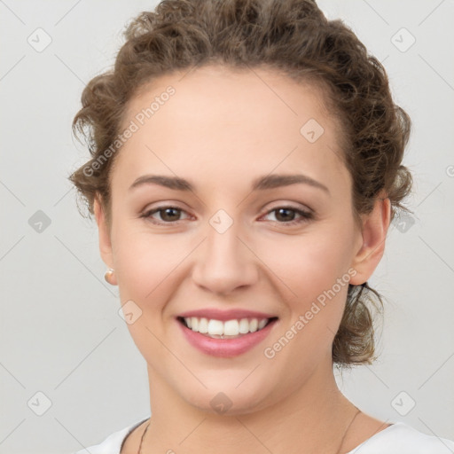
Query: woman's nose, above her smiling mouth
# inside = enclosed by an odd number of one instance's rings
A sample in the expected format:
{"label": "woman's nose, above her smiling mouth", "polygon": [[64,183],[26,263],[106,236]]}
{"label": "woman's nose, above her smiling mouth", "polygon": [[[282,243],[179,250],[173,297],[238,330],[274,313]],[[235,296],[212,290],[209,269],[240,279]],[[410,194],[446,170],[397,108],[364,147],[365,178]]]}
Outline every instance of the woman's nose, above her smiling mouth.
{"label": "woman's nose, above her smiling mouth", "polygon": [[253,285],[258,279],[258,259],[237,224],[223,233],[211,225],[199,247],[192,279],[213,294],[231,294],[239,287]]}

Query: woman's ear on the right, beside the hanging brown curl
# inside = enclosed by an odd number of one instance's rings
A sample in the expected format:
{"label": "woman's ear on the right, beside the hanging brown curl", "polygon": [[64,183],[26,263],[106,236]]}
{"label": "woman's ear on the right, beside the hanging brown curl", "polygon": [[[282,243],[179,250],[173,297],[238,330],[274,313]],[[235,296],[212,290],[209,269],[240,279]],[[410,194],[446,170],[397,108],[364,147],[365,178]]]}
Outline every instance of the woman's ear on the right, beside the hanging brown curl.
{"label": "woman's ear on the right, beside the hanging brown curl", "polygon": [[385,251],[387,229],[391,222],[391,203],[384,195],[375,201],[372,212],[362,217],[362,245],[356,253],[352,268],[356,275],[350,284],[359,286],[371,278]]}

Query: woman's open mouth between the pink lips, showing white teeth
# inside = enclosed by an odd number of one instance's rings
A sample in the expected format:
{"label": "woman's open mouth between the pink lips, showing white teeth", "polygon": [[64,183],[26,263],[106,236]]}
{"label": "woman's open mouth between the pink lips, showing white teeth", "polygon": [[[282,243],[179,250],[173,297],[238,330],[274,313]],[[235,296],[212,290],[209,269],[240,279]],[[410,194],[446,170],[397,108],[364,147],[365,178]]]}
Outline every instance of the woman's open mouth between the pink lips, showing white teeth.
{"label": "woman's open mouth between the pink lips, showing white teeth", "polygon": [[177,320],[194,333],[200,333],[211,339],[238,339],[249,333],[262,331],[268,325],[278,320],[269,318],[232,318],[217,320],[207,317],[176,317]]}

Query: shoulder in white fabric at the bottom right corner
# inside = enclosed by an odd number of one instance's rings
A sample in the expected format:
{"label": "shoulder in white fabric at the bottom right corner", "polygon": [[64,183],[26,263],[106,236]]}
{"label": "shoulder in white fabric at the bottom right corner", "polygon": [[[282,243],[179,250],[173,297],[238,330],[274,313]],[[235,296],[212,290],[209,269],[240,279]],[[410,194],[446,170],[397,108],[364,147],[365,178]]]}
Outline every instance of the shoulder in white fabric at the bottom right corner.
{"label": "shoulder in white fabric at the bottom right corner", "polygon": [[396,422],[356,446],[348,454],[452,454],[454,441],[428,435]]}

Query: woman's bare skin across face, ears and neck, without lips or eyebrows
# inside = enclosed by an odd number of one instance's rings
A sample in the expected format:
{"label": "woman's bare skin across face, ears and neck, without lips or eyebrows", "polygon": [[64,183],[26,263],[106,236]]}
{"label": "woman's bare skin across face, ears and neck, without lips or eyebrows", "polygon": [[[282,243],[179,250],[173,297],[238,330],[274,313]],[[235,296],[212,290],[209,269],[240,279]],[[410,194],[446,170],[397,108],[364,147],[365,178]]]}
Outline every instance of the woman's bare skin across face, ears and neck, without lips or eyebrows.
{"label": "woman's bare skin across face, ears and neck, without lips or eyebrows", "polygon": [[[112,225],[98,200],[94,206],[101,256],[115,270],[121,304],[132,300],[142,310],[128,325],[150,383],[153,417],[142,450],[334,454],[356,413],[336,385],[331,353],[348,286],[276,356],[263,349],[348,270],[354,285],[371,277],[385,246],[389,200],[378,199],[356,223],[340,125],[317,87],[265,68],[211,66],[183,75],[162,76],[131,99],[124,126],[168,85],[176,90],[117,156]],[[315,143],[300,133],[309,119],[325,129]],[[304,174],[328,191],[292,184],[251,192],[253,180],[270,173]],[[149,184],[129,191],[145,174],[183,177],[195,189]],[[271,211],[289,205],[314,217]],[[140,217],[158,206],[183,211]],[[209,223],[219,209],[233,220],[222,234]],[[302,222],[287,226],[292,219]],[[202,308],[260,310],[278,323],[242,355],[208,356],[176,322],[183,311]],[[210,405],[219,392],[232,403],[224,414]],[[146,424],[129,435],[123,454],[137,453]],[[362,412],[340,452],[385,427]]]}

